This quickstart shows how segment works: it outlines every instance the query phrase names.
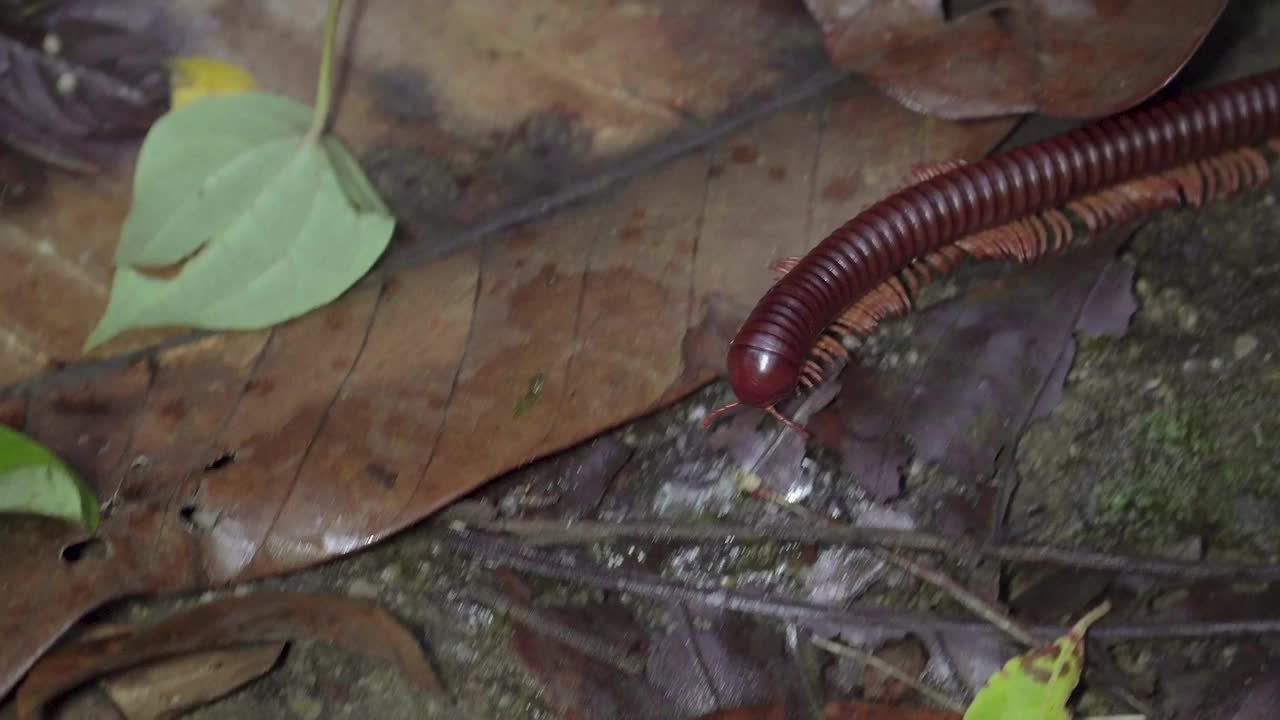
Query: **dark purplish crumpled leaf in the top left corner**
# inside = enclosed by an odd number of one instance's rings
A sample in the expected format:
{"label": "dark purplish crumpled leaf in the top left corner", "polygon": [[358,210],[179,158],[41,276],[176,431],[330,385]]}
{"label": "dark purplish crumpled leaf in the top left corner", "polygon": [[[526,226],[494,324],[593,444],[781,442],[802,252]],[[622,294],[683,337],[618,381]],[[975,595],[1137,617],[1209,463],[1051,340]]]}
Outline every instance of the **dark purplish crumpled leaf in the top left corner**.
{"label": "dark purplish crumpled leaf in the top left corner", "polygon": [[61,0],[0,24],[0,141],[83,169],[106,161],[168,108],[160,6]]}

